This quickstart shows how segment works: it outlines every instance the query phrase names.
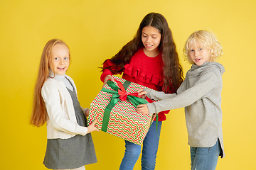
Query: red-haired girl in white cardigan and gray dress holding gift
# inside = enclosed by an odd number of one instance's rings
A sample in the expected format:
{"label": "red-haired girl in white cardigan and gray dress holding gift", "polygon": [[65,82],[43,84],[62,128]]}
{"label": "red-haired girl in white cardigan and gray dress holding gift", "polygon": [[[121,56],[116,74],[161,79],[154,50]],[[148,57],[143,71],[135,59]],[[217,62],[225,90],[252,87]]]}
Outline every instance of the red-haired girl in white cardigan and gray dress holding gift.
{"label": "red-haired girl in white cardigan and gray dress holding gift", "polygon": [[34,90],[31,125],[46,123],[47,147],[43,164],[48,169],[85,169],[97,162],[87,125],[88,108],[78,101],[73,79],[65,74],[70,64],[70,50],[62,40],[49,40],[43,48]]}

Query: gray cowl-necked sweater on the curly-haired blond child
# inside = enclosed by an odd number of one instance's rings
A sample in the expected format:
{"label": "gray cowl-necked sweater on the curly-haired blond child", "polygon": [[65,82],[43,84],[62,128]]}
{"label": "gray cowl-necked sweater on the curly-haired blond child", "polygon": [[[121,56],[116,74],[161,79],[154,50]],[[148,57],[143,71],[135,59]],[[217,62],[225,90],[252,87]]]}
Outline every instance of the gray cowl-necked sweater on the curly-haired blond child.
{"label": "gray cowl-necked sweater on the curly-haired blond child", "polygon": [[159,113],[185,107],[188,145],[191,147],[213,147],[219,139],[222,157],[225,157],[222,132],[221,90],[225,69],[218,62],[193,64],[177,94],[144,89],[146,96],[154,100],[147,103],[149,113]]}

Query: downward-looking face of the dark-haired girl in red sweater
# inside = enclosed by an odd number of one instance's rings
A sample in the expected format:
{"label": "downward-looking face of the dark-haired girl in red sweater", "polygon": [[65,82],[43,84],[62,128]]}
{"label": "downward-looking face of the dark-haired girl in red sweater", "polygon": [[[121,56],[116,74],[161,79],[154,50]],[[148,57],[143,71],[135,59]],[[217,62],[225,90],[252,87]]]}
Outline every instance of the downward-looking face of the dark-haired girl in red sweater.
{"label": "downward-looking face of the dark-haired girl in red sweater", "polygon": [[142,29],[142,43],[144,45],[144,52],[149,57],[156,57],[159,54],[159,44],[161,42],[161,33],[159,30],[146,26]]}

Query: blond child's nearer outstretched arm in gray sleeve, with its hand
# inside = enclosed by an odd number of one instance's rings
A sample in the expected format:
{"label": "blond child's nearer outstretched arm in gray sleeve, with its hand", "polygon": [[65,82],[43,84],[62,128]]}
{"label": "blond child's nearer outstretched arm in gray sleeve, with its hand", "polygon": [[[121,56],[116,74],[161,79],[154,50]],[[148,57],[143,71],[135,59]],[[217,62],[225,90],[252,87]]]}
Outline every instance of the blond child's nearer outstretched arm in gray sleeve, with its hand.
{"label": "blond child's nearer outstretched arm in gray sleeve, with its hand", "polygon": [[[215,72],[208,72],[198,79],[196,84],[190,89],[183,91],[174,98],[166,98],[154,103],[147,103],[146,105],[139,105],[137,111],[139,113],[159,113],[160,111],[167,111],[175,108],[183,108],[190,106],[192,103],[198,101],[200,98],[208,94],[218,84],[218,76]],[[147,107],[146,107],[147,106]]]}

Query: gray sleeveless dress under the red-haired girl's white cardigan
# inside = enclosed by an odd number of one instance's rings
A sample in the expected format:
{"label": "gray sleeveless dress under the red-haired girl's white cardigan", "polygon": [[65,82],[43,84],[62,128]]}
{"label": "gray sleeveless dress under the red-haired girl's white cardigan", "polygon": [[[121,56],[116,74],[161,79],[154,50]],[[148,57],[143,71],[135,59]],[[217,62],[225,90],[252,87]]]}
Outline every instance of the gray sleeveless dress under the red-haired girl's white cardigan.
{"label": "gray sleeveless dress under the red-haired girl's white cardigan", "polygon": [[[68,89],[68,88],[67,88]],[[74,88],[73,88],[74,89]],[[87,127],[85,118],[75,91],[68,89],[73,99],[78,125]],[[48,169],[75,169],[97,162],[92,135],[75,135],[69,139],[48,139],[43,164]]]}

